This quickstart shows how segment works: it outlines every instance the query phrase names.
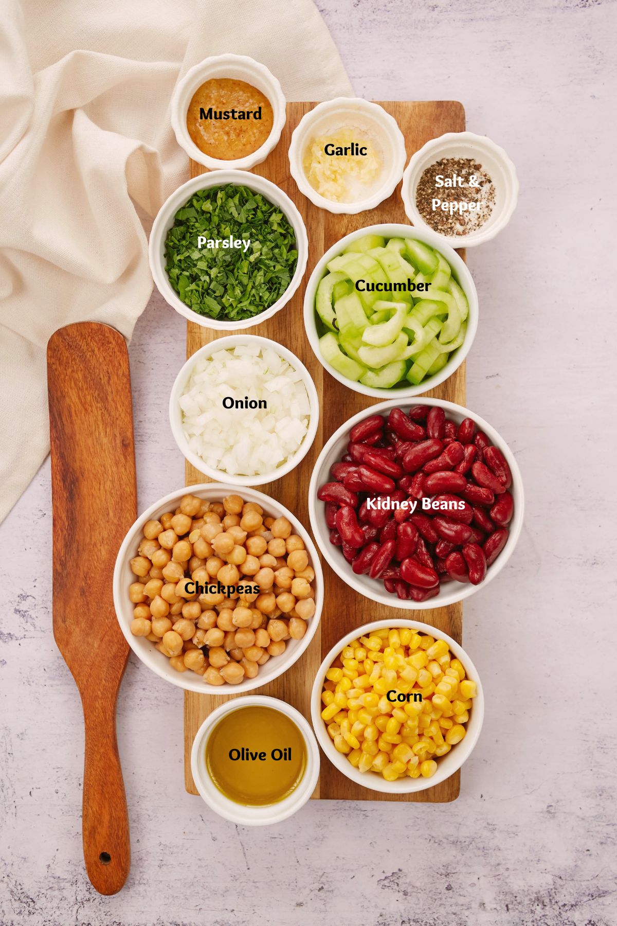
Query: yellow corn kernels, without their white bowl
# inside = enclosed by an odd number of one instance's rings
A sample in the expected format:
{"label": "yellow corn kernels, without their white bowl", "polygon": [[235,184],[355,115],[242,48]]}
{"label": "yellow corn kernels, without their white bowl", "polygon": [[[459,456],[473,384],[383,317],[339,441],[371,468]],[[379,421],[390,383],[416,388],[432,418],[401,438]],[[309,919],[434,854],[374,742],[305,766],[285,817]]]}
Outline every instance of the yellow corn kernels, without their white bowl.
{"label": "yellow corn kernels, without their white bowl", "polygon": [[327,670],[321,717],[355,769],[387,782],[431,778],[463,740],[475,694],[445,640],[382,628],[344,646]]}

